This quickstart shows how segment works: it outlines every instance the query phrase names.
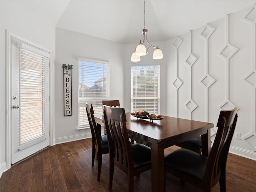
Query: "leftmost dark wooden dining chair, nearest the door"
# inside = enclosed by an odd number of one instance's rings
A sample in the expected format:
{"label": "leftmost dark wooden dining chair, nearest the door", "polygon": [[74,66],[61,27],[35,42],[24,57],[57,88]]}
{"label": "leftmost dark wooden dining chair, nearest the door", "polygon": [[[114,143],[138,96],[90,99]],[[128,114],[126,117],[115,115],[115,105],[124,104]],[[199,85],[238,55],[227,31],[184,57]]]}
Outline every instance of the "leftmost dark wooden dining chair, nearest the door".
{"label": "leftmost dark wooden dining chair, nearest the door", "polygon": [[109,153],[108,139],[106,135],[101,135],[101,127],[98,128],[98,126],[96,125],[92,104],[86,103],[86,113],[92,133],[92,167],[94,166],[94,159],[96,158],[96,160],[98,160],[97,180],[99,181],[102,165],[102,155]]}

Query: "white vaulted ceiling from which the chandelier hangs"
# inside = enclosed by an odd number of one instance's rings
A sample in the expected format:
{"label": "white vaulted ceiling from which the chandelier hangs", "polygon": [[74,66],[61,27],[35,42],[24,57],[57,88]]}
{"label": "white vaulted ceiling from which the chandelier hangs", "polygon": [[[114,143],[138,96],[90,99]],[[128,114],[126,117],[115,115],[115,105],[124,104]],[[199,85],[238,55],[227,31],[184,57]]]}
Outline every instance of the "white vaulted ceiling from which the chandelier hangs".
{"label": "white vaulted ceiling from which the chandelier hangs", "polygon": [[[120,43],[138,43],[144,28],[143,0],[22,0],[47,12],[56,27]],[[33,3],[32,3],[33,2]],[[256,0],[146,0],[148,40],[168,40],[224,18]]]}

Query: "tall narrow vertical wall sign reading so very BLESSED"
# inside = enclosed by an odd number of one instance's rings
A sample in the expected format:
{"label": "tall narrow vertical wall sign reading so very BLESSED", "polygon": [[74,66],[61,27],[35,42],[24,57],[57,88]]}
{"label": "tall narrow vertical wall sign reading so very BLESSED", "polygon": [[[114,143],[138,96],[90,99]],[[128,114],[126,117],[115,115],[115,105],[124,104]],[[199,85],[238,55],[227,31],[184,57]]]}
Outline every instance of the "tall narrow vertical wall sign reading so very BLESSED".
{"label": "tall narrow vertical wall sign reading so very BLESSED", "polygon": [[64,77],[64,116],[72,115],[71,70],[73,65],[62,64]]}

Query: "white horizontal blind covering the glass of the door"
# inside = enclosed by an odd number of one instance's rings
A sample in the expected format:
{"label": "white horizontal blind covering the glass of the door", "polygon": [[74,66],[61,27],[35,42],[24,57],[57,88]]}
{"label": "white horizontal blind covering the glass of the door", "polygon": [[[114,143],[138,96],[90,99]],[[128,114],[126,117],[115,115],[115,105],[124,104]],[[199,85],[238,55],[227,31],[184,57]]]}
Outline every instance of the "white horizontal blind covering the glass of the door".
{"label": "white horizontal blind covering the glass of the door", "polygon": [[20,149],[45,139],[48,126],[49,56],[20,52]]}

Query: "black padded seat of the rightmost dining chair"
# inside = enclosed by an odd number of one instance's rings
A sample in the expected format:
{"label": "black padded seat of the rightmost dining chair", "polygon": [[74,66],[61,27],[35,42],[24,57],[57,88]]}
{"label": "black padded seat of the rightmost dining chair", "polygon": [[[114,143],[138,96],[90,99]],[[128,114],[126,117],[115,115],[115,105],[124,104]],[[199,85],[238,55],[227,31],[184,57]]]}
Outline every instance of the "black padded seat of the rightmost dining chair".
{"label": "black padded seat of the rightmost dining chair", "polygon": [[183,148],[167,155],[164,164],[181,174],[203,181],[207,160],[208,157]]}

